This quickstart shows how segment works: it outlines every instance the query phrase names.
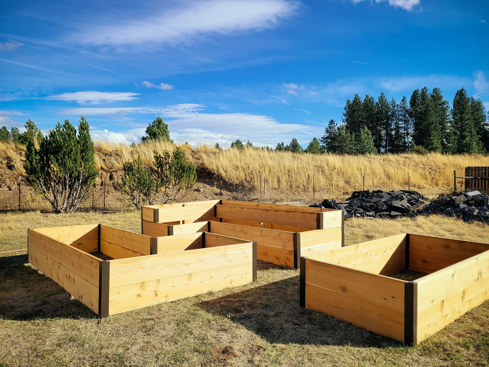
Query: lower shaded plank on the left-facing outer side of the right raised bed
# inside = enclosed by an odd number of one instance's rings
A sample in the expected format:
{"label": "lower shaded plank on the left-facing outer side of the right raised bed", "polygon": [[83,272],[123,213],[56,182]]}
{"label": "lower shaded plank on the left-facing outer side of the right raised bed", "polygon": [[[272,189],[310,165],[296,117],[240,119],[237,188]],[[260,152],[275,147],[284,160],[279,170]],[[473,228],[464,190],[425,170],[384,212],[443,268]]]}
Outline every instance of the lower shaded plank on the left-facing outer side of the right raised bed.
{"label": "lower shaded plank on the left-facing outer side of the right raised bed", "polygon": [[376,334],[399,341],[404,340],[403,312],[310,284],[306,284],[306,307],[371,330]]}

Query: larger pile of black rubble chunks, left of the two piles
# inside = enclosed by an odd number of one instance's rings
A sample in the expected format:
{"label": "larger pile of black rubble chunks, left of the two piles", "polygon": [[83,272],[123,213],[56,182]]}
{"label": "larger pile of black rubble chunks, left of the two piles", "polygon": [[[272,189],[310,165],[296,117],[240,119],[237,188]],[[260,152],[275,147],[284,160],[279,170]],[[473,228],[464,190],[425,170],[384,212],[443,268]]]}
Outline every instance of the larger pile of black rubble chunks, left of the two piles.
{"label": "larger pile of black rubble chunks, left of the two piles", "polygon": [[426,198],[413,190],[398,191],[355,191],[352,195],[339,203],[325,199],[314,207],[329,209],[343,209],[345,217],[398,218],[416,217],[418,207],[428,203]]}

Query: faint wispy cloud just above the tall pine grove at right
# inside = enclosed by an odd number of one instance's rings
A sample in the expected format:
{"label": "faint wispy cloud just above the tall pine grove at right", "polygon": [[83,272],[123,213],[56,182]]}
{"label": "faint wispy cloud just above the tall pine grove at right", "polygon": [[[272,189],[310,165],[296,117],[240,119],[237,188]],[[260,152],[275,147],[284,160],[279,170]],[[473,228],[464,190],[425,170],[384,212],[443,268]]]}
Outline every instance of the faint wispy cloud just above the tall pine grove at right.
{"label": "faint wispy cloud just above the tall pine grove at right", "polygon": [[452,75],[401,76],[377,79],[376,83],[391,92],[413,91],[418,88],[452,88],[458,89],[471,82],[469,78]]}

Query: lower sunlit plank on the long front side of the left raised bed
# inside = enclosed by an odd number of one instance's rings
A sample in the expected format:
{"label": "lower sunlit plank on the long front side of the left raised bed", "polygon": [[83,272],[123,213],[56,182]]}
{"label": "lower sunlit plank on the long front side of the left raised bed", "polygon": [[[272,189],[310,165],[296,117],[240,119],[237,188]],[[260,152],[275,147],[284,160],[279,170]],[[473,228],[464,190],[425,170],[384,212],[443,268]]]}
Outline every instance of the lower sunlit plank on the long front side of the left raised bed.
{"label": "lower sunlit plank on the long front side of the left raised bed", "polygon": [[120,287],[111,287],[110,314],[130,311],[161,302],[188,298],[208,291],[220,291],[252,281],[250,263],[189,273]]}

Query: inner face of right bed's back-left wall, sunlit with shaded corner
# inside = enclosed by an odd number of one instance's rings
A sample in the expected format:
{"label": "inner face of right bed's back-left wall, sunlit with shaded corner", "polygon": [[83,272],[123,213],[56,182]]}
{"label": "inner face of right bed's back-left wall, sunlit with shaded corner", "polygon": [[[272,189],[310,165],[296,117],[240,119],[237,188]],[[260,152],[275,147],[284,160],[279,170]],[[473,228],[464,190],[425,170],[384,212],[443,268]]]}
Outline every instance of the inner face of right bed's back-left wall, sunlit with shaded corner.
{"label": "inner face of right bed's back-left wall, sunlit with shaded corner", "polygon": [[391,275],[405,268],[405,243],[406,234],[402,233],[314,254],[311,258],[374,274]]}

